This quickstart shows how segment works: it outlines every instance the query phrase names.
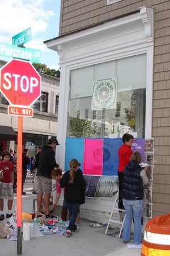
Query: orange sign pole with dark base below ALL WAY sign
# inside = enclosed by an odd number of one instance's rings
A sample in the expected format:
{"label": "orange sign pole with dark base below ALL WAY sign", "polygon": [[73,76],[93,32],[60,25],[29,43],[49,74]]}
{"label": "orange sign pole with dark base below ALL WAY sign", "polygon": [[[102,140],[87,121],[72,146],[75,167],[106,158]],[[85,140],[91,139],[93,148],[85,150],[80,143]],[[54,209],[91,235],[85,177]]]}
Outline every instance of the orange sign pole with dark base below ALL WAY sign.
{"label": "orange sign pole with dark base below ALL WAY sign", "polygon": [[18,159],[17,159],[17,254],[22,254],[22,147],[23,117],[18,117]]}

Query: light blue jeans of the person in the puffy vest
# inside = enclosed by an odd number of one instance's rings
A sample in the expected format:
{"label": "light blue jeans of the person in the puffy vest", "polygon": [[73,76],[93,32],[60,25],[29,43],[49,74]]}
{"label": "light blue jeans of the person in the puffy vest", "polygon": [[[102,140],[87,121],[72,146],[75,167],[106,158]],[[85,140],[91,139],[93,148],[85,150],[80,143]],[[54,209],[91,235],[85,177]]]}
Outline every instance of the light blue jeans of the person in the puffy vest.
{"label": "light blue jeans of the person in the puffy vest", "polygon": [[133,240],[134,244],[138,245],[142,241],[142,226],[141,226],[141,217],[142,217],[142,208],[143,200],[125,200],[123,199],[123,204],[126,210],[126,217],[123,230],[123,240],[130,240],[130,228],[131,221],[134,218],[134,233]]}

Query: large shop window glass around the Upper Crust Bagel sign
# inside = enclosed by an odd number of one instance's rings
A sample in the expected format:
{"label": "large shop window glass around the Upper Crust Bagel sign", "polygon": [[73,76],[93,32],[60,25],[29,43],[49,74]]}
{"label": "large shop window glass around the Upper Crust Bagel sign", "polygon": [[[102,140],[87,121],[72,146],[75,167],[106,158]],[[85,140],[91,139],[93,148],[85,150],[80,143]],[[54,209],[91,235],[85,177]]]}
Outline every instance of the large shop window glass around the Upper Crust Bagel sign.
{"label": "large shop window glass around the Upper Crust Bagel sign", "polygon": [[[74,79],[71,79],[67,136],[102,138],[114,134],[122,137],[130,131],[137,133],[137,137],[145,137],[146,55],[76,69],[71,71],[71,77]],[[92,110],[94,82],[112,78],[117,79],[114,109]],[[75,95],[76,90],[78,94]]]}

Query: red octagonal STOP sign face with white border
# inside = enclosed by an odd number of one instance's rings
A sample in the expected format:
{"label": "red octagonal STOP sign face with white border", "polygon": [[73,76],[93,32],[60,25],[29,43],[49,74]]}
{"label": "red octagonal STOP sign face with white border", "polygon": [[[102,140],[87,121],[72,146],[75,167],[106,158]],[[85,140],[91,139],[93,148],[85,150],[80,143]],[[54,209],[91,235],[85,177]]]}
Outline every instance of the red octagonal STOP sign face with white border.
{"label": "red octagonal STOP sign face with white border", "polygon": [[11,60],[0,69],[0,79],[11,105],[30,106],[41,96],[41,76],[28,61]]}

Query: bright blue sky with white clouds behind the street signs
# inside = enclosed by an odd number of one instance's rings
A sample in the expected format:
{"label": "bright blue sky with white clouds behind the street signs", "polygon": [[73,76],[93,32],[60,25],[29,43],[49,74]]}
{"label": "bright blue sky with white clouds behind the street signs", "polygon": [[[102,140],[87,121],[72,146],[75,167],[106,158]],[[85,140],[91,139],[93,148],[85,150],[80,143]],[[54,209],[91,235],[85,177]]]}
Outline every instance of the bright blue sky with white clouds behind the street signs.
{"label": "bright blue sky with white clouds behind the street signs", "polygon": [[[45,40],[56,38],[59,31],[61,0],[0,0],[0,42],[12,43],[12,36],[31,27],[32,40],[24,46],[41,51],[40,63],[59,69],[58,54],[48,49]],[[9,61],[0,56],[1,60]]]}

